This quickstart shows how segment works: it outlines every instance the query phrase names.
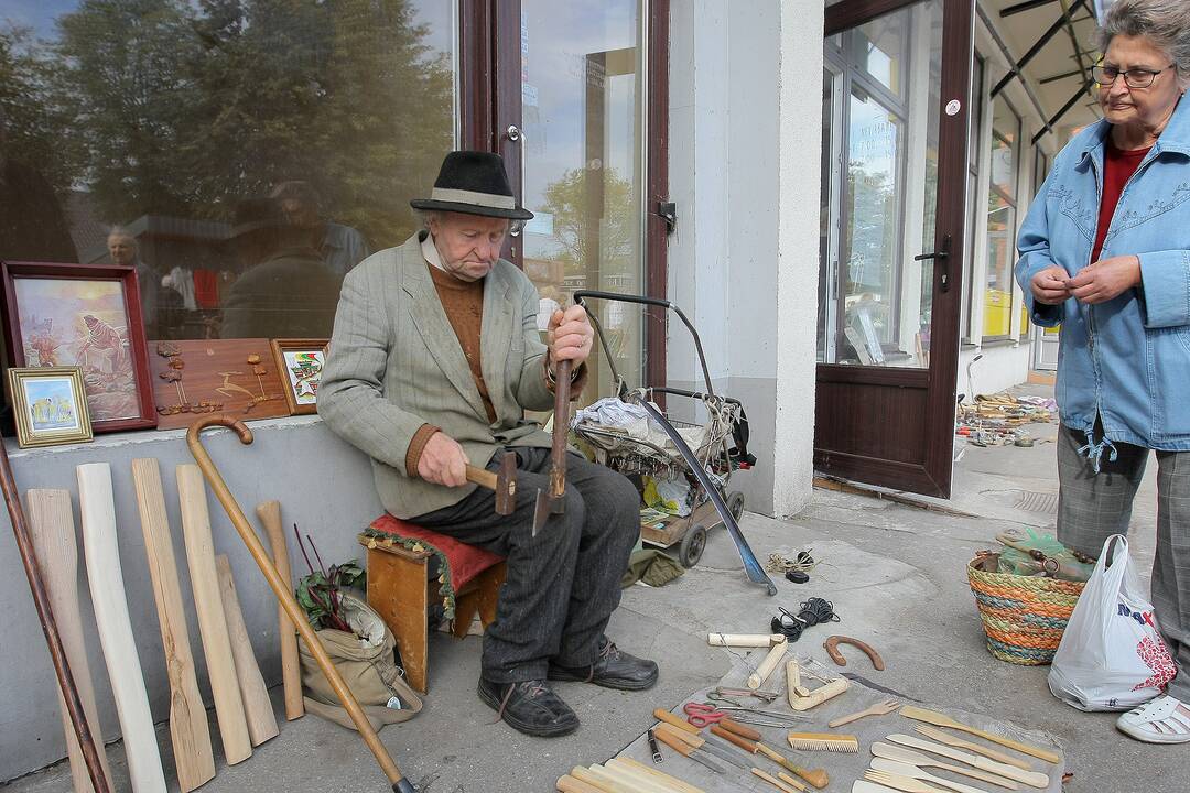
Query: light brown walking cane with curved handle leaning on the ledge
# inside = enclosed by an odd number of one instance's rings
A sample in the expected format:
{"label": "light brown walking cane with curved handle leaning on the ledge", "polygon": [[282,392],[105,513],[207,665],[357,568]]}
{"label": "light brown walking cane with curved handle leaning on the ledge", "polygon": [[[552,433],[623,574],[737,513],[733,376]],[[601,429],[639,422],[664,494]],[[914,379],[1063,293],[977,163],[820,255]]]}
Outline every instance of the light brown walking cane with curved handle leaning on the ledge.
{"label": "light brown walking cane with curved handle leaning on the ledge", "polygon": [[[326,654],[326,649],[322,648],[322,643],[319,641],[318,636],[314,634],[314,629],[311,628],[309,622],[306,619],[306,615],[302,612],[301,606],[298,605],[298,600],[294,599],[293,592],[289,591],[289,584],[281,578],[277,572],[276,566],[274,566],[273,560],[269,559],[269,554],[264,550],[264,546],[261,545],[259,537],[256,536],[256,529],[252,524],[248,522],[244,517],[244,510],[239,508],[236,503],[236,497],[231,495],[227,489],[227,484],[223,480],[219,471],[215,468],[214,462],[211,461],[211,455],[202,447],[202,441],[200,434],[207,427],[227,427],[239,435],[239,442],[245,446],[252,442],[252,430],[249,429],[244,422],[231,418],[227,416],[207,416],[201,418],[193,424],[190,429],[186,433],[186,442],[190,447],[190,454],[194,455],[195,462],[199,464],[199,468],[202,470],[202,476],[206,477],[207,484],[211,485],[211,490],[214,491],[215,498],[223,504],[224,511],[227,512],[227,517],[231,518],[232,524],[234,524],[236,530],[239,533],[240,539],[244,545],[248,546],[249,552],[252,554],[252,559],[256,565],[264,573],[265,580],[269,586],[273,587],[274,594],[277,596],[277,600],[281,606],[286,610],[289,616],[289,621],[298,628],[298,632],[301,637],[306,640],[306,646],[309,652],[314,655],[314,660],[318,661],[318,666],[322,669],[322,674],[330,681],[331,687],[334,688],[336,696],[343,704],[343,707],[351,716],[351,720],[356,724],[356,730],[363,736],[364,743],[371,749],[372,755],[376,756],[376,762],[383,769],[384,775],[388,776],[388,781],[393,783],[394,793],[416,793],[416,788],[413,783],[401,775],[401,769],[396,767],[393,757],[388,754],[388,749],[381,743],[380,736],[376,735],[376,730],[372,729],[371,723],[368,717],[364,716],[363,710],[359,707],[359,703],[356,701],[355,694],[347,688],[347,684],[343,681],[343,675],[339,671],[334,668],[334,663],[331,662],[331,656]],[[7,491],[6,491],[7,492]]]}

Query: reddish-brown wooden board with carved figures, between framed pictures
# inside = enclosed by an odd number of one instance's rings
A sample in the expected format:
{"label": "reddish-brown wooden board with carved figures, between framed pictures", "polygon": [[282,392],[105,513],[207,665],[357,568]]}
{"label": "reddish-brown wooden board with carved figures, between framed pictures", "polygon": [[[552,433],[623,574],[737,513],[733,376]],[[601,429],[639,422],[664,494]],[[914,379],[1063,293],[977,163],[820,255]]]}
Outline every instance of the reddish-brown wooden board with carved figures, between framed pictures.
{"label": "reddish-brown wooden board with carved figures, between framed pictures", "polygon": [[[287,386],[277,372],[268,339],[158,341],[149,352],[161,429],[189,427],[212,414],[240,421],[289,415]],[[251,357],[259,360],[250,364]],[[171,363],[181,364],[181,369],[173,369]],[[263,373],[257,376],[257,370]],[[171,382],[162,375],[181,375],[181,379]],[[192,411],[170,413],[181,404],[190,405]]]}

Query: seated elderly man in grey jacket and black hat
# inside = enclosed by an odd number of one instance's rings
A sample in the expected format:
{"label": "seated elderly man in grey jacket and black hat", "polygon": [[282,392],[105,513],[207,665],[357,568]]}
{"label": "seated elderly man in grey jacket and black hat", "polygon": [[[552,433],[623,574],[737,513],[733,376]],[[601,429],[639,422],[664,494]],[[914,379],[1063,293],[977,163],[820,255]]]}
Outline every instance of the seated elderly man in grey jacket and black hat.
{"label": "seated elderly man in grey jacket and black hat", "polygon": [[[525,417],[553,407],[556,365],[584,379],[594,332],[581,307],[557,310],[547,344],[538,295],[500,258],[518,208],[503,162],[452,152],[428,200],[426,229],[381,251],[343,282],[318,411],[372,458],[384,508],[507,559],[496,621],[483,641],[480,699],[513,728],[564,735],[578,717],[550,680],[643,690],[657,665],[605,635],[640,531],[639,495],[619,473],[570,455],[565,512],[534,536],[533,505],[549,487],[550,436]],[[518,458],[515,512],[468,485],[465,465]]]}

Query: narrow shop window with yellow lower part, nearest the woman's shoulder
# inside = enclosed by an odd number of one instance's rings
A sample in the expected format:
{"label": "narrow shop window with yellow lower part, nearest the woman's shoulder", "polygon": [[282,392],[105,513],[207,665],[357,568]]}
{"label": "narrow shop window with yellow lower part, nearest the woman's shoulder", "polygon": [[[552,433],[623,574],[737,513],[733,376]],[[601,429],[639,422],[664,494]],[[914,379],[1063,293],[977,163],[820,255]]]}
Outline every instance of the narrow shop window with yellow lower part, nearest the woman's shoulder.
{"label": "narrow shop window with yellow lower part, nearest the woman's shoulder", "polygon": [[1007,339],[1013,326],[1013,265],[1016,262],[1016,191],[1021,119],[1003,96],[991,106],[988,175],[988,268],[983,296],[983,340]]}

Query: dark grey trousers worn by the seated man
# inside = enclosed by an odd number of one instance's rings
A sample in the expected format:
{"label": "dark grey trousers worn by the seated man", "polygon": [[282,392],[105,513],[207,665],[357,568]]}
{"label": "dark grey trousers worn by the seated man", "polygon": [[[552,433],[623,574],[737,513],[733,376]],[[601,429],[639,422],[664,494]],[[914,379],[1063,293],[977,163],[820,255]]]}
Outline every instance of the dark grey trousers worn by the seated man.
{"label": "dark grey trousers worn by the seated man", "polygon": [[[550,449],[515,448],[516,509],[495,514],[495,495],[476,489],[459,503],[412,520],[505,556],[496,621],[483,636],[482,675],[493,682],[538,680],[550,661],[594,662],[620,604],[620,578],[640,535],[640,495],[627,478],[566,455],[565,512],[533,536],[538,490],[550,487]],[[488,465],[499,467],[501,454]]]}

